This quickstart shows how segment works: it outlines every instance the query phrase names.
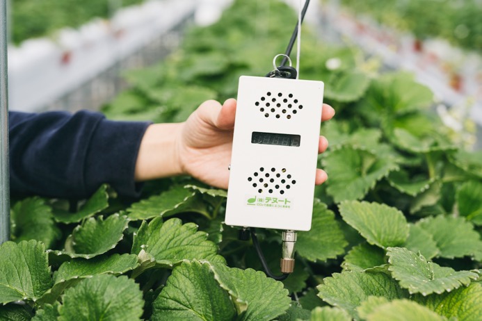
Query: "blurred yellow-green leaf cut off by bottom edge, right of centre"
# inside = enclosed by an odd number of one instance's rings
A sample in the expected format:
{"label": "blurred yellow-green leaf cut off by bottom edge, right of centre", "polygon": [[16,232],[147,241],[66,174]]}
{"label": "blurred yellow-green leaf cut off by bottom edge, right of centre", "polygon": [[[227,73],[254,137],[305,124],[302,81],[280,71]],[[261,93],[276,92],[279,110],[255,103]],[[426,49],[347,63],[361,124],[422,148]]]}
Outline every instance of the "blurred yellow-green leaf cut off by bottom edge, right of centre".
{"label": "blurred yellow-green leaf cut off by bottom edge, right of centre", "polygon": [[375,311],[369,313],[367,321],[444,321],[446,318],[430,309],[408,299],[398,299],[377,306]]}

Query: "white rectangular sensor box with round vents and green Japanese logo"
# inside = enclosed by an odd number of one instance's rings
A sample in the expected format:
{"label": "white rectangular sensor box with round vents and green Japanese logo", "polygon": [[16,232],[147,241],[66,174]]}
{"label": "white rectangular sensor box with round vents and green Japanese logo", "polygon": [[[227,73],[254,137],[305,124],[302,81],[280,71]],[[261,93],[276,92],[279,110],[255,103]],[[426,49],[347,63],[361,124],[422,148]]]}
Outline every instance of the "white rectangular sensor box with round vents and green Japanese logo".
{"label": "white rectangular sensor box with round vents and green Japanese logo", "polygon": [[323,82],[241,76],[225,223],[309,231]]}

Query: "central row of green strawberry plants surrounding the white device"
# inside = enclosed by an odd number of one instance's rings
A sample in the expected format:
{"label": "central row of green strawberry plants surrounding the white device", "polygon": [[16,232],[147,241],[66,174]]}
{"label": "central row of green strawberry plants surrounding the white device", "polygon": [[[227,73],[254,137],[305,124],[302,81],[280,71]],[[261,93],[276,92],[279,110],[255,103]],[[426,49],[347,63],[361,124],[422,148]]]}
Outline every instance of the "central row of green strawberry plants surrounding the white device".
{"label": "central row of green strawberry plants surrounding the white device", "polygon": [[[178,122],[204,99],[235,97],[239,76],[269,71],[294,20],[278,1],[236,1],[159,65],[128,72],[131,88],[104,112]],[[304,32],[301,77],[326,83],[337,115],[321,125],[330,179],[288,279],[267,278],[223,224],[225,190],[175,177],[133,200],[101,186],[77,204],[13,199],[0,320],[480,320],[480,152],[450,138],[410,74],[379,74]],[[279,273],[280,232],[258,235]]]}

